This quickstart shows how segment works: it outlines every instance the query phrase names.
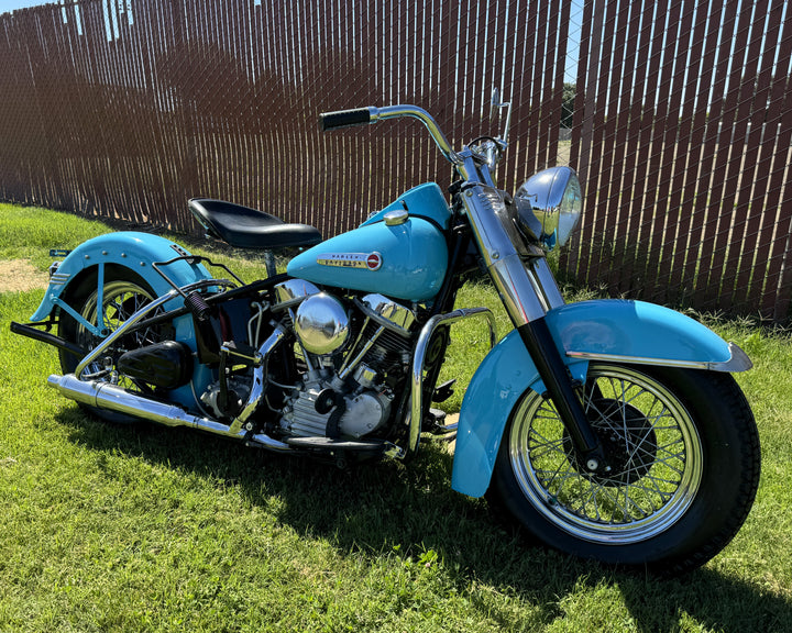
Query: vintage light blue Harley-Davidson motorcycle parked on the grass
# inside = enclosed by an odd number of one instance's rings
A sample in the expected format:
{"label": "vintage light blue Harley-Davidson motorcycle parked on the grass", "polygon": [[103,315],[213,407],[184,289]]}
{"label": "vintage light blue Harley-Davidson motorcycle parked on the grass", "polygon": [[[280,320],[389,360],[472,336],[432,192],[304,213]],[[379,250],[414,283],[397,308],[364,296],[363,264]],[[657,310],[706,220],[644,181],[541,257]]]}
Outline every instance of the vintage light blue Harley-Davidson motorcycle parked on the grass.
{"label": "vintage light blue Harley-Davidson motorcycle parked on the grass", "polygon": [[[99,418],[340,467],[406,459],[421,435],[455,433],[451,487],[486,495],[540,542],[662,575],[694,569],[729,543],[757,491],[757,427],[730,375],[751,362],[667,308],[564,301],[547,254],[580,220],[581,185],[562,166],[514,195],[495,186],[510,118],[499,101],[502,134],[459,152],[415,106],[320,115],[326,131],[419,120],[458,176],[449,198],[420,185],[323,242],[312,226],[194,199],[212,237],[301,251],[285,274],[268,265],[244,284],[164,237],[102,235],[53,264],[31,322],[12,330],[58,348],[63,374],[48,385]],[[499,342],[488,309],[454,308],[479,269],[514,325]],[[438,385],[449,330],[471,319],[491,351],[451,424],[431,403],[453,390]]]}

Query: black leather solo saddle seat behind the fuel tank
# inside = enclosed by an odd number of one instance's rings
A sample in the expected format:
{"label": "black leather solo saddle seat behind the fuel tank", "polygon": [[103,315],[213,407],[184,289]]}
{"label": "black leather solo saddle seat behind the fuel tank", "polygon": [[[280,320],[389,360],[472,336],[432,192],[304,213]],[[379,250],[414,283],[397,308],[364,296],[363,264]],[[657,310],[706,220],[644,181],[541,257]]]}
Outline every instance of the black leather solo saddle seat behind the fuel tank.
{"label": "black leather solo saddle seat behind the fuel tank", "polygon": [[209,235],[238,248],[272,251],[314,246],[322,241],[314,226],[287,224],[275,215],[233,202],[194,198],[187,204]]}

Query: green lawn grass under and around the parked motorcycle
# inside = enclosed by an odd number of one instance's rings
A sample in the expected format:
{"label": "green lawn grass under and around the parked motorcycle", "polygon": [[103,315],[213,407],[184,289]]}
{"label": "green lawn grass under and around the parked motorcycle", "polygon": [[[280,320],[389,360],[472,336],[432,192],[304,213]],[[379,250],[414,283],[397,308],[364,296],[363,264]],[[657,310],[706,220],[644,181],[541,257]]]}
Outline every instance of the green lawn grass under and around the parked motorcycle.
{"label": "green lawn grass under and around the parked motorcycle", "polygon": [[[50,247],[107,230],[0,206],[0,258],[45,269]],[[484,501],[450,489],[443,446],[342,473],[186,430],[103,424],[45,386],[52,348],[9,332],[42,297],[0,293],[0,632],[792,631],[787,334],[713,323],[756,364],[737,378],[759,422],[762,481],[729,547],[661,581],[505,532]],[[460,302],[498,308],[482,284]],[[486,353],[484,327],[465,327],[453,333],[451,410]]]}

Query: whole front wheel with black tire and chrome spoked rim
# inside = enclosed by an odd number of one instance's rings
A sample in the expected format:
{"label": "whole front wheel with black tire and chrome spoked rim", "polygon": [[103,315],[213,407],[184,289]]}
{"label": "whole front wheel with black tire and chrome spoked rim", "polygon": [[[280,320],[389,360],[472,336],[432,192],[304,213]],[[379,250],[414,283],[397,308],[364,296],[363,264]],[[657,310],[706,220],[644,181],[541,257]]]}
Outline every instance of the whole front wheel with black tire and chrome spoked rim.
{"label": "whole front wheel with black tire and chrome spoked rim", "polygon": [[734,537],[759,485],[759,435],[728,374],[595,364],[584,406],[612,470],[579,467],[552,403],[515,407],[488,496],[542,543],[662,576]]}

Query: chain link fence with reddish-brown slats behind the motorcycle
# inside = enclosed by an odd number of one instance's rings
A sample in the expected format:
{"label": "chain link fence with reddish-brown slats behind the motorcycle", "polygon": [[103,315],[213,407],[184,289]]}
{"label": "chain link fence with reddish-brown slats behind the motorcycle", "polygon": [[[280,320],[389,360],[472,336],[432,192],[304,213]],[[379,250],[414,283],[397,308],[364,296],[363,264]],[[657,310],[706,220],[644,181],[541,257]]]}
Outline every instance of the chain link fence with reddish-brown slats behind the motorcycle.
{"label": "chain link fence with reddish-brown slats behind the motorcycle", "polygon": [[562,270],[783,322],[791,57],[784,0],[62,0],[0,15],[0,198],[180,232],[222,198],[331,236],[452,174],[418,122],[318,113],[414,103],[459,147],[498,87],[499,185],[586,187]]}

